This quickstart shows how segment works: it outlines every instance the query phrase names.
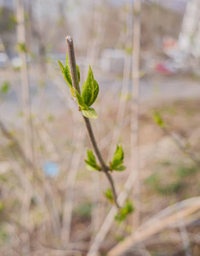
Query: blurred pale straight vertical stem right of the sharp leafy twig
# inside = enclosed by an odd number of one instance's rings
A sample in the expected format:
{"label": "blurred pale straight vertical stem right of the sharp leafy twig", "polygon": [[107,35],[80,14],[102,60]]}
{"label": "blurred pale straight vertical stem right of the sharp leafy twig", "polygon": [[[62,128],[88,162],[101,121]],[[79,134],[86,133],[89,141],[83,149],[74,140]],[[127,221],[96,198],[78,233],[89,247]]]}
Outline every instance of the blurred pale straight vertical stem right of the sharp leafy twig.
{"label": "blurred pale straight vertical stem right of the sharp leafy twig", "polygon": [[[140,0],[134,1],[133,27],[133,85],[131,117],[131,160],[132,172],[136,174],[134,185],[134,229],[140,224],[140,151],[139,151],[139,118],[140,118]],[[134,230],[133,229],[133,230]]]}

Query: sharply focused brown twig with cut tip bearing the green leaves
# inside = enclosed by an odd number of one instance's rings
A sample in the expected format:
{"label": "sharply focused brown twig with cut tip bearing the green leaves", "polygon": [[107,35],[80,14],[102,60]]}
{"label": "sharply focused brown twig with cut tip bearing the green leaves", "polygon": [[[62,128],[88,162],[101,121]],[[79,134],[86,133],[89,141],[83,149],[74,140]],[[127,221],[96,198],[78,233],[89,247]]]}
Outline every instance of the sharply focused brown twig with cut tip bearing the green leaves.
{"label": "sharply focused brown twig with cut tip bearing the green leaves", "polygon": [[[68,55],[69,55],[72,85],[78,91],[78,93],[80,93],[81,90],[80,90],[79,83],[78,83],[78,78],[77,78],[77,65],[76,65],[76,59],[75,59],[75,53],[74,53],[74,47],[73,47],[73,40],[70,36],[66,37],[66,44],[67,44]],[[108,181],[111,184],[111,189],[112,189],[115,204],[116,204],[117,208],[120,208],[118,203],[117,203],[117,193],[116,193],[114,182],[113,182],[112,177],[109,173],[109,167],[106,166],[106,163],[103,160],[102,155],[100,154],[100,149],[98,148],[98,145],[96,143],[96,140],[95,140],[95,137],[94,137],[94,132],[92,130],[92,126],[90,124],[90,121],[89,121],[88,118],[86,118],[84,116],[83,116],[83,119],[84,119],[86,128],[88,130],[89,139],[90,139],[90,141],[93,145],[95,154],[96,154],[98,160],[100,161],[100,166],[102,168],[101,171],[105,172],[106,177],[108,178]]]}

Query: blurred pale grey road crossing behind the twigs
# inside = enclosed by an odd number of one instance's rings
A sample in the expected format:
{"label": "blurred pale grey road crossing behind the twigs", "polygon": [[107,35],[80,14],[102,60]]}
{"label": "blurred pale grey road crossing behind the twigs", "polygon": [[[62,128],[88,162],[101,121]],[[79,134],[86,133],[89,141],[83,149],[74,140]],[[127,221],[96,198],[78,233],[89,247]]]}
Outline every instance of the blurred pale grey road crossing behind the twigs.
{"label": "blurred pale grey road crossing behind the twigs", "polygon": [[[61,114],[67,107],[67,102],[63,93],[56,86],[55,81],[50,81],[45,85],[39,85],[37,72],[30,72],[31,81],[31,104],[33,113],[40,117],[47,116],[49,113]],[[58,71],[57,77],[61,78]],[[22,96],[20,85],[20,73],[0,70],[0,86],[3,81],[10,82],[10,90],[7,95],[0,93],[0,119],[9,122],[9,124],[20,124],[20,115],[22,109]],[[122,87],[122,80],[101,80],[100,93],[105,90],[111,90],[118,94]],[[131,81],[129,84],[131,90]],[[151,78],[140,79],[140,101],[161,102],[165,100],[174,100],[180,98],[192,98],[200,96],[200,83],[191,79],[180,78],[177,76],[161,77],[155,74]]]}

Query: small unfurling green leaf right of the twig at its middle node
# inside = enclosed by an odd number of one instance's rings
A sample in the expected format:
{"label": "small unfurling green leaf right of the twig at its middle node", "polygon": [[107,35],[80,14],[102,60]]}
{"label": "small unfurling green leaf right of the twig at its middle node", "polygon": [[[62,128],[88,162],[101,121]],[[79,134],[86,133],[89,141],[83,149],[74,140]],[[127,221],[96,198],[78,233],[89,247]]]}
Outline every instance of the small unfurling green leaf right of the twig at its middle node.
{"label": "small unfurling green leaf right of the twig at its middle node", "polygon": [[123,170],[126,169],[126,167],[123,166],[123,147],[122,146],[117,145],[117,149],[110,163],[110,168],[111,170],[115,170],[117,172],[122,172]]}

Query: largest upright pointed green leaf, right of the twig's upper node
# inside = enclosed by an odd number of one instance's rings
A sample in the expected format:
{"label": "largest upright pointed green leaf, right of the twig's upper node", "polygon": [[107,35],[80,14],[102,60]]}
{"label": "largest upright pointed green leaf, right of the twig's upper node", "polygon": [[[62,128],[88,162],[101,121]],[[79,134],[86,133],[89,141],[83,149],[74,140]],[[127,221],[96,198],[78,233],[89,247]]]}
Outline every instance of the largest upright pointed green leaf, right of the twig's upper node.
{"label": "largest upright pointed green leaf, right of the twig's upper node", "polygon": [[87,106],[91,106],[99,93],[99,84],[94,80],[94,75],[91,67],[89,66],[89,73],[87,80],[83,83],[82,94],[83,101]]}

